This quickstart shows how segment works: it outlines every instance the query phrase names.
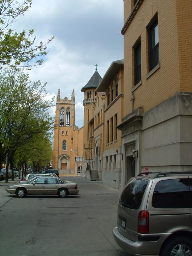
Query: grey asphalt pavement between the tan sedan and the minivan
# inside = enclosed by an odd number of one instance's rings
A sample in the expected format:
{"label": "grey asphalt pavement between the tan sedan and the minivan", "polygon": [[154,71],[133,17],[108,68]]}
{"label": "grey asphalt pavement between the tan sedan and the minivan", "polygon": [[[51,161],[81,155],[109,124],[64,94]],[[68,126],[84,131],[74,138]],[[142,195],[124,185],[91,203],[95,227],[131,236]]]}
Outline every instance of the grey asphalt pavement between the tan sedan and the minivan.
{"label": "grey asphalt pavement between the tan sedan and the minivan", "polygon": [[17,198],[5,191],[10,182],[0,182],[0,256],[129,256],[112,236],[118,190],[66,180],[78,183],[78,195]]}

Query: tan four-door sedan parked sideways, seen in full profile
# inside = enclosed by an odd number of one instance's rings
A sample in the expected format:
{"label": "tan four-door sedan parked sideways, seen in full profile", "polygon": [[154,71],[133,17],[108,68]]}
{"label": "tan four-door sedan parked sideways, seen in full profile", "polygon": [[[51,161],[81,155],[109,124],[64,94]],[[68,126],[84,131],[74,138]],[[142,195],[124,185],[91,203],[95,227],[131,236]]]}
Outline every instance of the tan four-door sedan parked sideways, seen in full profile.
{"label": "tan four-door sedan parked sideways, seen in full profile", "polygon": [[26,195],[58,195],[65,198],[72,194],[78,194],[79,189],[76,183],[60,180],[55,177],[36,177],[25,184],[16,184],[8,186],[6,191],[10,194],[16,194],[18,197]]}

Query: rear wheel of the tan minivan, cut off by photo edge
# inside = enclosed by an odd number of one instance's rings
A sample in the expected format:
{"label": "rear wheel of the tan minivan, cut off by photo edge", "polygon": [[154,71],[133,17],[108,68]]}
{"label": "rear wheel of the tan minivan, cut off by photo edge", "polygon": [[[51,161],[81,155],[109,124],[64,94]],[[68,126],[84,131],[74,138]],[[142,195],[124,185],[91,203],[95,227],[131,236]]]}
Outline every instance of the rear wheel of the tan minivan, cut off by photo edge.
{"label": "rear wheel of the tan minivan, cut off by photo edge", "polygon": [[192,240],[186,236],[174,236],[163,246],[160,256],[192,256]]}

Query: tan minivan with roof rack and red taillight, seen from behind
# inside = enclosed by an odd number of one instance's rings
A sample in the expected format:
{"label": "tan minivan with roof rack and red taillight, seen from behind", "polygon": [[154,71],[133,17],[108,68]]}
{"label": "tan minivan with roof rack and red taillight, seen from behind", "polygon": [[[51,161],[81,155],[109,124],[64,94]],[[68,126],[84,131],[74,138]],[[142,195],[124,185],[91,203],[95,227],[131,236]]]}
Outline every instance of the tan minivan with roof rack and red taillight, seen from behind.
{"label": "tan minivan with roof rack and red taillight, seen from behind", "polygon": [[192,256],[192,172],[132,177],[118,203],[117,244],[132,255]]}

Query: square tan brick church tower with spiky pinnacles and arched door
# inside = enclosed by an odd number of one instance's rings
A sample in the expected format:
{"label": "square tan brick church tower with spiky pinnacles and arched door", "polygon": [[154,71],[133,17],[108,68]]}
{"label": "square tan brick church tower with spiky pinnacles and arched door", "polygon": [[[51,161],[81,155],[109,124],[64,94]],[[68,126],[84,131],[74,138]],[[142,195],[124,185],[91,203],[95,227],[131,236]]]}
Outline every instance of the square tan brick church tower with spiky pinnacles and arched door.
{"label": "square tan brick church tower with spiky pinnacles and arched door", "polygon": [[[71,99],[61,99],[58,89],[54,122],[54,146],[52,166],[60,173],[76,173],[78,163],[76,157],[82,156],[83,128],[75,125],[75,93],[72,90]],[[81,143],[82,144],[82,143]]]}

